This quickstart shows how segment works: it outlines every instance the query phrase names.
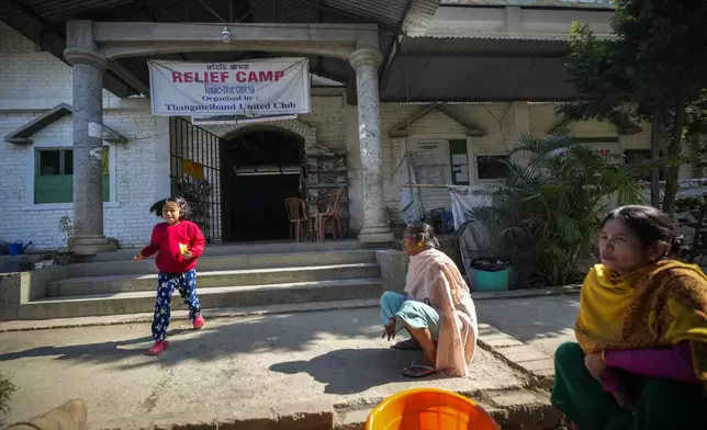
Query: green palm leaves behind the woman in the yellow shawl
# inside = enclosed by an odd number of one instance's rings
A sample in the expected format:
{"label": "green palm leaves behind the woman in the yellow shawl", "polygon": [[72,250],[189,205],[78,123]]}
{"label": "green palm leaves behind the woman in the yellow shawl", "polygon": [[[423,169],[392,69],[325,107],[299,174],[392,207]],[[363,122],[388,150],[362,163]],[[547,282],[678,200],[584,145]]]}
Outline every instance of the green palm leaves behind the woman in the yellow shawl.
{"label": "green palm leaves behind the woman in the yellow shawl", "polygon": [[474,210],[463,227],[490,226],[498,238],[494,251],[542,285],[574,282],[577,261],[606,213],[640,203],[637,178],[671,162],[625,166],[622,156],[599,156],[564,135],[521,136],[512,155],[517,152],[528,162],[506,161],[508,178],[492,192],[501,203]]}

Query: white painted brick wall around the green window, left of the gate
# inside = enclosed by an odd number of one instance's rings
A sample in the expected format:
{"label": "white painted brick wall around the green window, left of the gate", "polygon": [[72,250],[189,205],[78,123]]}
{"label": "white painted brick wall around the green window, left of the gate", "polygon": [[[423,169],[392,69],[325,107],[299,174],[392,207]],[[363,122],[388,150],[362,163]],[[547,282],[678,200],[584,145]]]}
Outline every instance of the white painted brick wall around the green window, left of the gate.
{"label": "white painted brick wall around the green window, left of the gate", "polygon": [[[61,102],[71,103],[71,68],[0,23],[0,136]],[[110,146],[112,201],[104,203],[104,231],[121,246],[143,246],[157,220],[148,208],[169,193],[169,129],[144,100],[122,101],[104,91],[104,123],[130,140]],[[33,203],[34,150],[70,147],[71,131],[66,116],[32,136],[31,146],[0,142],[0,239],[63,245],[58,219],[72,217],[72,204]]]}

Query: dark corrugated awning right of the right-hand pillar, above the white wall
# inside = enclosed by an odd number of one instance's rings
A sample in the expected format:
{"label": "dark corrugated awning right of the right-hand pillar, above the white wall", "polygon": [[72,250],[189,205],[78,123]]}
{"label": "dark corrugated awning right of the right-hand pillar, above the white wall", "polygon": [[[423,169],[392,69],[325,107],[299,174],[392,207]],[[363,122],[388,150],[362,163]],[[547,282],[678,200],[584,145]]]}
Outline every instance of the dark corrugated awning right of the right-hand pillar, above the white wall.
{"label": "dark corrugated awning right of the right-hand pillar, above the white wall", "polygon": [[404,37],[381,83],[385,102],[571,100],[562,41]]}

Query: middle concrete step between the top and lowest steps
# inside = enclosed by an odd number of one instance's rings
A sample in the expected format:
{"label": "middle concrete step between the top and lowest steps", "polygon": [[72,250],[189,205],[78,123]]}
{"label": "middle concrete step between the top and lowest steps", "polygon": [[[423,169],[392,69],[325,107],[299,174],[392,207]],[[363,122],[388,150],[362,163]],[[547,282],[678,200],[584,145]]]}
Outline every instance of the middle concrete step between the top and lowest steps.
{"label": "middle concrete step between the top and lowest steps", "polygon": [[[380,267],[374,263],[311,265],[300,268],[243,269],[226,271],[200,271],[198,285],[210,288],[227,285],[266,285],[357,278],[380,278]],[[46,286],[46,297],[91,294],[116,294],[127,292],[155,292],[157,273],[67,278]]]}

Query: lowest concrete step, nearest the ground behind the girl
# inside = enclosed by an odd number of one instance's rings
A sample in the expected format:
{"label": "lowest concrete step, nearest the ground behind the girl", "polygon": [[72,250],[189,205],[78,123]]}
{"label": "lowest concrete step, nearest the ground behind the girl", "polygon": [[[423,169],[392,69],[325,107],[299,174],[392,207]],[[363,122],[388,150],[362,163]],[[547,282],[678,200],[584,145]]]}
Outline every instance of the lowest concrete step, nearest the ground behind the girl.
{"label": "lowest concrete step, nearest the ground behind the girl", "polygon": [[[154,285],[153,285],[154,286]],[[278,304],[347,301],[380,297],[380,278],[339,281],[314,281],[199,288],[202,308],[270,306]],[[172,296],[172,309],[183,307],[178,293]],[[47,297],[30,302],[32,319],[75,318],[119,314],[149,313],[155,308],[155,288],[113,294]]]}

